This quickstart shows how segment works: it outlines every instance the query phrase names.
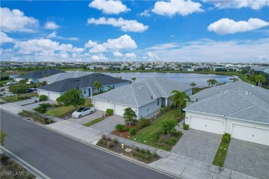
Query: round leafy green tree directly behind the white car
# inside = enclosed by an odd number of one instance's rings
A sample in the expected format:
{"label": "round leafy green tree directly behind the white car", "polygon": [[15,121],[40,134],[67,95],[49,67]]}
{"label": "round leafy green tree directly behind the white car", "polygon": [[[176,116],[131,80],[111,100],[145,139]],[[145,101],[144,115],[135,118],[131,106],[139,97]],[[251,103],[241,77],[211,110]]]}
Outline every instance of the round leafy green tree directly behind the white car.
{"label": "round leafy green tree directly behind the white car", "polygon": [[56,99],[58,103],[63,103],[64,106],[74,106],[74,111],[76,111],[78,105],[84,105],[85,99],[82,91],[79,89],[70,89],[68,92],[61,95]]}

